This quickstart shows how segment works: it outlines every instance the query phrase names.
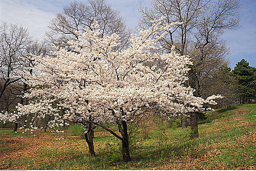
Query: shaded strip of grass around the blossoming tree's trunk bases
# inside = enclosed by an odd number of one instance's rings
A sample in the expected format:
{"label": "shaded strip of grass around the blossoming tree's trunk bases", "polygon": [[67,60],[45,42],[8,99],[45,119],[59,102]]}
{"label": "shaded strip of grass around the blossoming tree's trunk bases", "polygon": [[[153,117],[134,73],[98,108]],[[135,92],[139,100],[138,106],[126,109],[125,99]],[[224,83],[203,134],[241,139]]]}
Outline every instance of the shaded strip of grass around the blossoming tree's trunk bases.
{"label": "shaded strip of grass around the blossoming tree's trunk bases", "polygon": [[[86,150],[43,150],[41,157],[51,158],[45,169],[148,169],[150,165],[160,165],[162,161],[166,161],[170,158],[182,158],[184,156],[184,146],[181,143],[165,145],[164,147],[155,146],[140,146],[138,149],[131,151],[132,161],[123,162],[121,148],[115,147],[105,148],[96,152],[96,157],[90,157]],[[59,166],[54,164],[55,158]],[[52,160],[52,162],[51,162]],[[62,161],[63,160],[63,161]],[[169,160],[168,160],[169,161]],[[62,164],[61,164],[62,163]],[[31,168],[34,169],[34,168]],[[42,169],[42,168],[41,168]]]}

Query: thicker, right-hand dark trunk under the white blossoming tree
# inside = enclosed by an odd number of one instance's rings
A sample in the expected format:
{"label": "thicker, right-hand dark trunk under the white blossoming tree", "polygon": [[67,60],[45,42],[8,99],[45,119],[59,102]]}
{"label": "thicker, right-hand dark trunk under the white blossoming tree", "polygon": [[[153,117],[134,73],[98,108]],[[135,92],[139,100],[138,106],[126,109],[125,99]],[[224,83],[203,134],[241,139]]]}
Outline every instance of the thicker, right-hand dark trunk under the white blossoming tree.
{"label": "thicker, right-hand dark trunk under the white blossoming tree", "polygon": [[122,121],[123,125],[123,139],[122,139],[122,154],[123,154],[123,160],[125,162],[131,161],[130,157],[130,151],[129,151],[129,136],[128,136],[128,130],[127,130],[127,124],[125,121]]}

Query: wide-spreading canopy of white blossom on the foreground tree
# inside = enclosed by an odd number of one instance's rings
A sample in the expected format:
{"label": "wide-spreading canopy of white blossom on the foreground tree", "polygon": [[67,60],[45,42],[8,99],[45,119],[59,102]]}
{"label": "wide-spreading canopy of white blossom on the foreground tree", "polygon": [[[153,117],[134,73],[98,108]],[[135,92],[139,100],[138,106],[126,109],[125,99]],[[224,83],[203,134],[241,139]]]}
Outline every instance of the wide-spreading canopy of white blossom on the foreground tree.
{"label": "wide-spreading canopy of white blossom on the foreground tree", "polygon": [[215,105],[214,99],[220,95],[204,100],[183,85],[188,80],[187,65],[192,64],[189,57],[176,53],[174,45],[170,53],[162,52],[159,39],[177,23],[161,24],[161,20],[152,21],[152,28],[140,30],[138,35],[132,34],[130,47],[119,51],[114,48],[119,44],[118,35],[101,37],[94,23],[93,31],[78,32],[79,39],[68,42],[72,51],[60,48],[53,52],[55,57],[31,55],[37,64],[29,68],[34,74],[19,72],[35,87],[24,98],[34,100],[19,104],[16,114],[0,113],[0,119],[16,121],[32,114],[30,127],[37,129],[37,121],[51,115],[49,127],[54,128],[68,125],[64,120],[129,121],[150,107],[157,107],[169,118],[202,110],[204,103]]}

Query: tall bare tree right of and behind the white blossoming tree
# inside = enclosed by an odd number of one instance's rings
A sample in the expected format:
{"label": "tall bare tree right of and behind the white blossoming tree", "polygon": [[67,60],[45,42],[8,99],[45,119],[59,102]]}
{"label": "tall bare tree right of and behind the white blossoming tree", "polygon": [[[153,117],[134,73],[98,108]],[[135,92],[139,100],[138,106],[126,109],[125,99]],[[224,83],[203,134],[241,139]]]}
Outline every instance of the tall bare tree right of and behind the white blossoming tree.
{"label": "tall bare tree right of and behind the white blossoming tree", "polygon": [[[142,19],[139,26],[150,25],[150,20],[164,16],[166,23],[177,22],[161,44],[167,51],[171,45],[181,55],[189,55],[190,66],[188,85],[195,88],[195,96],[202,96],[205,81],[212,73],[227,64],[228,49],[221,35],[228,29],[237,29],[239,24],[240,0],[152,0],[152,8],[141,7]],[[187,119],[183,118],[183,124]],[[198,137],[197,112],[191,113],[192,138]]]}

